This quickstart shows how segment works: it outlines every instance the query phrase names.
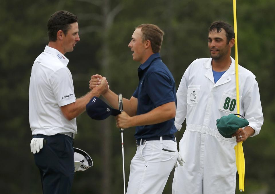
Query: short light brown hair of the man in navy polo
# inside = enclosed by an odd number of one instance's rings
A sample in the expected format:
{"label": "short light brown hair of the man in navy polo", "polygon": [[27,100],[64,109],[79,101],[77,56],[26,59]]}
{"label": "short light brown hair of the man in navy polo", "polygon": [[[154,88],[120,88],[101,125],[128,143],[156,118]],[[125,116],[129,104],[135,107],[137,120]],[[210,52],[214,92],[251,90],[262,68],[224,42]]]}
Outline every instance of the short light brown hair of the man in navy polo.
{"label": "short light brown hair of the man in navy polo", "polygon": [[142,42],[150,40],[153,53],[160,52],[164,32],[154,24],[146,23],[137,26],[141,28]]}

